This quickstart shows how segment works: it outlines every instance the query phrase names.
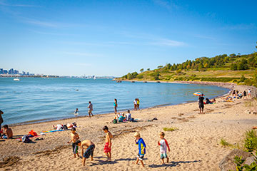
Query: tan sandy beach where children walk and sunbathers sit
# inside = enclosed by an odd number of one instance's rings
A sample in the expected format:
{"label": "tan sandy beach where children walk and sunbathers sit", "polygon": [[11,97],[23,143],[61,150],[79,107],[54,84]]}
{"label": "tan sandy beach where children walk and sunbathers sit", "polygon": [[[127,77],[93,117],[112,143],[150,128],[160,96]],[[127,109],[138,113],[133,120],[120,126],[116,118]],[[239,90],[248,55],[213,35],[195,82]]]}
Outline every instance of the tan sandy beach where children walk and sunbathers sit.
{"label": "tan sandy beach where children walk and sunbathers sit", "polygon": [[[229,83],[219,84],[239,91],[249,88]],[[251,89],[253,94],[256,93],[256,89]],[[246,110],[257,111],[256,105],[250,104],[251,101],[248,98],[224,102],[221,97],[216,99],[216,104],[205,105],[204,114],[198,114],[196,97],[195,103],[131,111],[132,117],[138,118],[135,123],[113,124],[111,120],[114,119],[114,113],[109,113],[95,115],[93,118],[14,126],[11,128],[17,137],[28,134],[30,130],[40,133],[53,130],[52,125],[76,122],[76,133],[79,133],[81,140],[92,140],[96,144],[94,161],[86,160],[86,166],[83,167],[80,158],[71,158],[71,145],[67,144],[71,131],[66,130],[41,135],[39,138],[44,140],[31,139],[34,143],[26,144],[16,138],[1,141],[0,160],[4,162],[0,163],[0,170],[220,170],[218,163],[232,150],[219,144],[221,138],[232,144],[240,143],[246,130],[257,126],[257,116],[246,113]],[[111,162],[106,162],[103,152],[105,134],[101,128],[104,125],[114,135]],[[161,165],[158,133],[163,128],[171,127],[178,130],[165,132],[171,147],[171,152],[168,152],[170,162]],[[146,142],[144,168],[132,163],[138,153],[133,137],[136,131],[141,133]]]}

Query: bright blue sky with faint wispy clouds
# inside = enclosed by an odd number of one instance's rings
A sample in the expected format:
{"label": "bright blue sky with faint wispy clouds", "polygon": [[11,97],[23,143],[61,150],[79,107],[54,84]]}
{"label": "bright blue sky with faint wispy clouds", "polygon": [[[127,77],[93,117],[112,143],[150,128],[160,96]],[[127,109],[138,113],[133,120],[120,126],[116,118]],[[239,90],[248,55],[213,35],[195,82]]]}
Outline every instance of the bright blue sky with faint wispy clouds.
{"label": "bright blue sky with faint wispy clouds", "polygon": [[256,0],[0,0],[0,68],[124,76],[257,51]]}

